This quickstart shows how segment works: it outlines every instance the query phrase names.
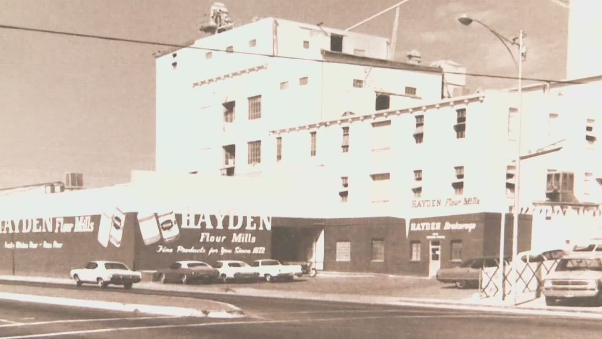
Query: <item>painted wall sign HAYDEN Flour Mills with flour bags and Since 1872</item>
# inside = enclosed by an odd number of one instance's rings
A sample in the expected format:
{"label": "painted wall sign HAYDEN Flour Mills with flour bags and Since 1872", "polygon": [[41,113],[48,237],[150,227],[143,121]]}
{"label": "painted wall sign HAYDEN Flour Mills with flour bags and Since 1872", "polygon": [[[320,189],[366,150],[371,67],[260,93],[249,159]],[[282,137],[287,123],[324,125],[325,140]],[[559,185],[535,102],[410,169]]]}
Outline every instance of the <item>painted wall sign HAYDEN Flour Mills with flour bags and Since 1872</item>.
{"label": "painted wall sign HAYDEN Flour Mills with flour bags and Since 1872", "polygon": [[[156,253],[202,255],[265,254],[258,242],[270,236],[271,217],[240,212],[138,213],[138,226],[146,246]],[[260,236],[261,235],[261,236]]]}

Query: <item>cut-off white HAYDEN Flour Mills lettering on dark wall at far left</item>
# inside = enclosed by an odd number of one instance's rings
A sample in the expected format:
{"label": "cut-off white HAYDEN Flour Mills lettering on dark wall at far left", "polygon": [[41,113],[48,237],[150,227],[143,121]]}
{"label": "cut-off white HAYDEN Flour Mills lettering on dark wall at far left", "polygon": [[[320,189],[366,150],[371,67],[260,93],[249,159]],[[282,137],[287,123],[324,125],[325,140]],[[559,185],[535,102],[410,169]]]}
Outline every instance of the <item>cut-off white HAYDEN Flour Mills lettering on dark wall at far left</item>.
{"label": "cut-off white HAYDEN Flour Mills lettering on dark wall at far left", "polygon": [[46,239],[4,241],[4,249],[61,249],[63,242],[55,236],[65,233],[92,233],[99,223],[99,215],[82,217],[29,218],[0,221],[0,235],[41,235]]}

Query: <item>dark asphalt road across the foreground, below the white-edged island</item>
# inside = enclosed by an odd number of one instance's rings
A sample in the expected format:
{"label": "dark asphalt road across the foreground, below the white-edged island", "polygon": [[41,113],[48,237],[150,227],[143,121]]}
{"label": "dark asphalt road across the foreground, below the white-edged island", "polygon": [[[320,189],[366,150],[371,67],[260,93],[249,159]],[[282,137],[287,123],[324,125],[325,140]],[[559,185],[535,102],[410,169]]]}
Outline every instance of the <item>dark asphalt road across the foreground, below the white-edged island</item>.
{"label": "dark asphalt road across the foreground, below the white-edged island", "polygon": [[599,320],[238,298],[249,305],[246,318],[157,317],[0,300],[0,337],[574,339],[602,331]]}

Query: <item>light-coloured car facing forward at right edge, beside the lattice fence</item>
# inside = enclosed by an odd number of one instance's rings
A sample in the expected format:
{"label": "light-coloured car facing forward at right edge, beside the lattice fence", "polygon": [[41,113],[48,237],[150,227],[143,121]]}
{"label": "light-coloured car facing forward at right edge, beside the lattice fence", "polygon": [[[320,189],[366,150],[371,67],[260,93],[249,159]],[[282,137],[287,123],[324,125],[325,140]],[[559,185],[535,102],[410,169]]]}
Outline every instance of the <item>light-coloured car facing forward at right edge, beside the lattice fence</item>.
{"label": "light-coloured car facing forward at right edge, beside the lattice fence", "polygon": [[559,300],[586,299],[602,306],[602,253],[573,252],[559,260],[556,270],[544,279],[545,304]]}

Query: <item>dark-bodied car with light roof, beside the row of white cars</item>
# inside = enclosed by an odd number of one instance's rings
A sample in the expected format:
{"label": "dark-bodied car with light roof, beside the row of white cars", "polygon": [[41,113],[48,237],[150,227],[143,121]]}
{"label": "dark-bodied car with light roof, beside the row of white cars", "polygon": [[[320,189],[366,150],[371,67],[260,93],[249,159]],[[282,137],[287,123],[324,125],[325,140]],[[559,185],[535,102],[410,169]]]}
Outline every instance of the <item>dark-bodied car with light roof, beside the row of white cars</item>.
{"label": "dark-bodied car with light roof, beside the row of white cars", "polygon": [[208,283],[220,276],[219,271],[206,262],[191,260],[173,262],[168,268],[158,270],[157,274],[163,284],[167,282],[188,284],[199,280]]}

